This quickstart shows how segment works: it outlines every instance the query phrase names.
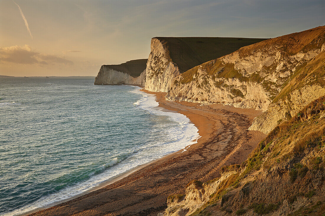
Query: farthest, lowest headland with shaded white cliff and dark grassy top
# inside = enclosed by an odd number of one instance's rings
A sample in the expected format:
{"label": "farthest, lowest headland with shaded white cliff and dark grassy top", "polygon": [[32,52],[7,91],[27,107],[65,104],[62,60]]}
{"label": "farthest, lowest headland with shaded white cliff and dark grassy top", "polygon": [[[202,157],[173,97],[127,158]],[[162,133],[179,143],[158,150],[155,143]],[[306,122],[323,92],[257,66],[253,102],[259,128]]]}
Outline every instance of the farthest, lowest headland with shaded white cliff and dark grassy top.
{"label": "farthest, lowest headland with shaded white cliff and dark grassy top", "polygon": [[103,65],[95,78],[95,85],[130,84],[144,86],[146,63],[147,59],[138,59],[121,65]]}

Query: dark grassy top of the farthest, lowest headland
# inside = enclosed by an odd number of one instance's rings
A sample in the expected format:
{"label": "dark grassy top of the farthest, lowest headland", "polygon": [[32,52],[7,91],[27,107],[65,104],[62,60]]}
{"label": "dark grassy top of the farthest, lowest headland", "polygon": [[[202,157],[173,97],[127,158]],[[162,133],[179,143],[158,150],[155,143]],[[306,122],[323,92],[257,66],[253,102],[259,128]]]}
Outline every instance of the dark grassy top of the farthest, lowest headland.
{"label": "dark grassy top of the farthest, lowest headland", "polygon": [[146,69],[148,59],[137,59],[125,62],[120,65],[104,65],[122,73],[129,74],[132,77],[138,77]]}

